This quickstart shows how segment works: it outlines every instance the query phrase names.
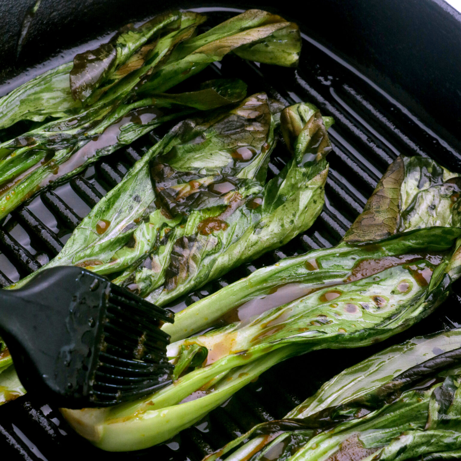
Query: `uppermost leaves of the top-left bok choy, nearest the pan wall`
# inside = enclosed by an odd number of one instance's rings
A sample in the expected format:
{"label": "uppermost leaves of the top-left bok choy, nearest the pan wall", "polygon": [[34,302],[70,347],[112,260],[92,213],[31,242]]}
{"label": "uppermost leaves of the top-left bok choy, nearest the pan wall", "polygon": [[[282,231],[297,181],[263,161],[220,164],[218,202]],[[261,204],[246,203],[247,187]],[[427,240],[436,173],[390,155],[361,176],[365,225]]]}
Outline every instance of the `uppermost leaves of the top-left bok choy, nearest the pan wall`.
{"label": "uppermost leaves of the top-left bok choy, nearest the pan wall", "polygon": [[75,115],[85,111],[82,101],[91,106],[102,96],[97,105],[114,97],[120,100],[131,90],[164,92],[232,50],[243,59],[269,64],[298,62],[299,30],[280,16],[248,10],[194,37],[195,28],[206,19],[194,12],[173,11],[137,28],[128,24],[109,42],[77,54],[73,63],[47,71],[0,98],[0,128],[21,119]]}

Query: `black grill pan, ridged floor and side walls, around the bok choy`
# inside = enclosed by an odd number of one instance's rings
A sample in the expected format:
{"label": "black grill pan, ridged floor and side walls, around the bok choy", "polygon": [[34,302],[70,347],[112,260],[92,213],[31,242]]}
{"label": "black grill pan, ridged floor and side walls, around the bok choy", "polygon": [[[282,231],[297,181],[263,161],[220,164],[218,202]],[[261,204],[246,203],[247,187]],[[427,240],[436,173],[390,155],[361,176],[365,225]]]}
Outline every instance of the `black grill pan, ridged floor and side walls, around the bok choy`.
{"label": "black grill pan, ridged floor and side walls, around the bok choy", "polygon": [[[428,155],[461,171],[460,13],[443,0],[324,0],[306,3],[304,11],[284,3],[168,3],[170,8],[207,12],[207,25],[249,7],[295,20],[303,33],[297,69],[226,57],[199,74],[198,81],[240,77],[250,94],[265,90],[287,103],[311,101],[336,120],[330,130],[334,151],[329,155],[325,207],[313,227],[283,248],[190,293],[176,309],[258,267],[335,245],[398,154]],[[164,4],[144,0],[41,0],[34,6],[35,0],[0,0],[0,95],[106,41],[121,25],[165,9]],[[144,136],[79,177],[42,192],[0,222],[0,283],[18,280],[52,258],[79,220],[162,133]],[[276,149],[270,171],[276,174],[287,158],[282,148]],[[0,459],[52,461],[74,455],[90,460],[198,461],[254,424],[284,416],[344,367],[416,334],[459,327],[457,291],[461,293],[455,286],[449,300],[419,325],[383,343],[318,351],[275,366],[195,426],[140,452],[101,452],[74,434],[57,408],[29,393],[0,407]]]}

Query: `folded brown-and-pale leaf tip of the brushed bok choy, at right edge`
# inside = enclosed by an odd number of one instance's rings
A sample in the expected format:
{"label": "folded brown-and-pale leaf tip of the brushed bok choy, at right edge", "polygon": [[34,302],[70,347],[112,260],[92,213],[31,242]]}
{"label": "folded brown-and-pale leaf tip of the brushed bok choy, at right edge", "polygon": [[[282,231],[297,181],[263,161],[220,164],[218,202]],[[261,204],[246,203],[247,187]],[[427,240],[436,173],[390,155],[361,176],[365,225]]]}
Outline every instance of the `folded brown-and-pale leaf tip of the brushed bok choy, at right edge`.
{"label": "folded brown-and-pale leaf tip of the brushed bok choy, at right edge", "polygon": [[422,157],[398,157],[343,238],[358,243],[431,226],[459,227],[460,175]]}

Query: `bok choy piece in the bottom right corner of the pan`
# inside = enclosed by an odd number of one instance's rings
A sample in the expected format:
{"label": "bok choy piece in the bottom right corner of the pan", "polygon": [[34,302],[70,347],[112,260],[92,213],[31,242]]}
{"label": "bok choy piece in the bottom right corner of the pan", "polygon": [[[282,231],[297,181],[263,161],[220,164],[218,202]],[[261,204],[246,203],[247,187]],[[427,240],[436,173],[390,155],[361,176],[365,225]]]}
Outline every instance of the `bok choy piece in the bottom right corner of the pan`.
{"label": "bok choy piece in the bottom right corner of the pan", "polygon": [[457,459],[460,366],[460,329],[415,337],[344,370],[283,420],[255,426],[204,461]]}

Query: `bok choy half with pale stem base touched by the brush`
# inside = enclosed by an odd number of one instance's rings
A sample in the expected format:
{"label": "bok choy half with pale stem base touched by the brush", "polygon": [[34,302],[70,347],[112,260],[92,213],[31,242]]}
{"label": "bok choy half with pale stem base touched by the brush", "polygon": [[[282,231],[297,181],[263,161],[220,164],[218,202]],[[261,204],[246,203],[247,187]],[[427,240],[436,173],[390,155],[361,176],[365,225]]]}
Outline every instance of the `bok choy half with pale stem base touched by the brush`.
{"label": "bok choy half with pale stem base touched by the brush", "polygon": [[[460,186],[459,174],[433,160],[397,158],[339,245],[261,268],[162,327],[176,341],[168,348],[182,372],[174,384],[108,410],[64,410],[66,418],[102,449],[145,448],[279,361],[366,346],[414,325],[459,277]],[[424,406],[414,398],[420,415]]]}

